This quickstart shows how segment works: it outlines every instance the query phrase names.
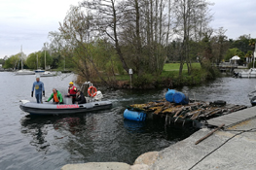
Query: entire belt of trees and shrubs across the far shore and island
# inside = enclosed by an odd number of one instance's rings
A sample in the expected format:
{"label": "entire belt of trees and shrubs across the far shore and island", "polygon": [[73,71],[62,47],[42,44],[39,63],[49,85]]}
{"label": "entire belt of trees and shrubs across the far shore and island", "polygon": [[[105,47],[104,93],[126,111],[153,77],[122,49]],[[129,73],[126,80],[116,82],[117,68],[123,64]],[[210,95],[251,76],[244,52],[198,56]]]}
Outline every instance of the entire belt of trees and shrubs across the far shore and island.
{"label": "entire belt of trees and shrubs across the far shore and island", "polygon": [[145,89],[199,85],[220,76],[212,65],[235,55],[238,64],[253,59],[256,39],[250,34],[229,39],[225,28],[210,27],[209,2],[104,2],[70,7],[41,51],[28,56],[20,51],[0,64],[16,70],[21,64],[24,69],[69,69],[79,75],[78,85],[90,81]]}

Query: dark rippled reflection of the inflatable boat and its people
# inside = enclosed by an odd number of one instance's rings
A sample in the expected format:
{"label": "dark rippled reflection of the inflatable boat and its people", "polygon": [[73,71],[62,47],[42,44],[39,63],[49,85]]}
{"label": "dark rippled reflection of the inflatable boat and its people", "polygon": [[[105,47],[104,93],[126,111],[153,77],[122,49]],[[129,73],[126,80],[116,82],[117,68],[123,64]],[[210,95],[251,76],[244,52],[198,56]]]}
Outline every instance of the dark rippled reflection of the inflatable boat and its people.
{"label": "dark rippled reflection of the inflatable boat and its people", "polygon": [[74,117],[25,116],[20,120],[21,133],[32,137],[30,145],[45,153],[48,152],[49,147],[54,145],[62,148],[61,144],[65,144],[69,138],[83,134],[85,127],[87,133],[90,134],[94,130],[91,122],[96,124],[95,119],[87,121],[87,117],[83,115]]}

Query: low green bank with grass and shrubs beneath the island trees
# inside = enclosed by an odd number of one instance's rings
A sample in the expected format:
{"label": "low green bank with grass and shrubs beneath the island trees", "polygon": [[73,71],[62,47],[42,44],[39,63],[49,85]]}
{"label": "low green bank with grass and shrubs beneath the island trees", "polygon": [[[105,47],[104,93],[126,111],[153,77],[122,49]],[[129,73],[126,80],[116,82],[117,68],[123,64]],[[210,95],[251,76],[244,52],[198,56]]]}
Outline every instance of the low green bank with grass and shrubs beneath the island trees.
{"label": "low green bank with grass and shrubs beneath the island trees", "polygon": [[[211,67],[211,71],[209,71],[201,68],[199,62],[192,63],[193,69],[190,75],[186,72],[187,67],[184,64],[182,75],[179,77],[179,65],[180,63],[166,63],[160,76],[152,74],[144,74],[142,76],[132,75],[131,84],[128,74],[115,75],[115,79],[109,80],[107,85],[95,77],[90,82],[93,85],[107,86],[109,88],[151,89],[158,87],[172,88],[180,85],[200,85],[201,83],[221,77],[217,68]],[[78,73],[76,83],[82,85],[84,82],[87,82],[86,78]]]}

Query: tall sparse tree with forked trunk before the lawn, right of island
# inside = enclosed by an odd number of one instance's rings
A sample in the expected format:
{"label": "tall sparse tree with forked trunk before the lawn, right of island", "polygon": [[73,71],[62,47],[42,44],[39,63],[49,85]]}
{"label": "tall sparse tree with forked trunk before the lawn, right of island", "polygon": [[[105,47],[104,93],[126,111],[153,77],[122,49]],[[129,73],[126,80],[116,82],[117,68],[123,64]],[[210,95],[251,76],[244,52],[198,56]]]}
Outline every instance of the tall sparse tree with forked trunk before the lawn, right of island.
{"label": "tall sparse tree with forked trunk before the lawn, right of island", "polygon": [[182,74],[184,61],[187,63],[188,73],[191,74],[190,39],[194,37],[196,41],[200,41],[202,33],[205,35],[208,32],[207,23],[211,19],[208,16],[209,5],[210,3],[205,0],[174,1],[174,30],[177,35],[183,37],[182,51],[179,56],[179,76]]}

